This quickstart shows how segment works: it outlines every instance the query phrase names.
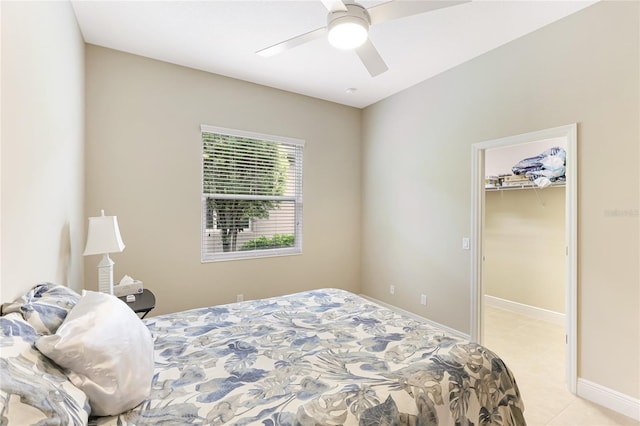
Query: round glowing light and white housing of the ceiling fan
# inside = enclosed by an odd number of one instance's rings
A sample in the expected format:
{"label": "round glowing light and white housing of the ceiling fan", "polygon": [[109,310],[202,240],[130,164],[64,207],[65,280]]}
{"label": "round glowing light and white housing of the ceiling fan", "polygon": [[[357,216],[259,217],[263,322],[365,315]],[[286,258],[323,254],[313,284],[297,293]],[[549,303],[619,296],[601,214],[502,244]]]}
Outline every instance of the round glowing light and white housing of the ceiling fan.
{"label": "round glowing light and white housing of the ceiling fan", "polygon": [[367,40],[371,18],[358,4],[345,6],[346,11],[334,11],[327,17],[328,39],[338,49],[355,49]]}

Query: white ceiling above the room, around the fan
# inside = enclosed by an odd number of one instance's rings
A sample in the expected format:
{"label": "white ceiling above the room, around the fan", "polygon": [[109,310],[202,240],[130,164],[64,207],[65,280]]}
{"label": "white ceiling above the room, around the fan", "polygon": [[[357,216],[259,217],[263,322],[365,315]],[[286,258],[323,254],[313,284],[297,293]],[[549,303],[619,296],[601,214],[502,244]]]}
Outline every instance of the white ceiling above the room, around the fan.
{"label": "white ceiling above the room, around the fan", "polygon": [[363,108],[595,1],[473,0],[383,22],[369,32],[389,66],[377,77],[325,38],[272,57],[255,54],[325,26],[319,0],[71,3],[87,43]]}

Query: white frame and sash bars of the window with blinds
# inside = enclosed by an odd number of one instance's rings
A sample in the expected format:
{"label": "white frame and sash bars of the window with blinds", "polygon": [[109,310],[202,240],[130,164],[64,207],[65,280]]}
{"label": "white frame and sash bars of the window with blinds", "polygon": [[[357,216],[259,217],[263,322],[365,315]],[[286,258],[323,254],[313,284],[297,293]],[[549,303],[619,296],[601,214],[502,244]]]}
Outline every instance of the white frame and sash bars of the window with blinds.
{"label": "white frame and sash bars of the window with blinds", "polygon": [[[224,127],[210,126],[206,124],[200,125],[200,206],[201,206],[201,230],[200,230],[200,256],[202,263],[208,262],[219,262],[226,260],[238,260],[238,259],[253,259],[253,258],[263,258],[263,257],[272,257],[272,256],[288,256],[288,255],[296,255],[302,253],[302,212],[303,212],[303,204],[302,204],[302,175],[303,175],[303,154],[302,149],[295,150],[296,165],[300,167],[300,178],[296,180],[296,190],[293,196],[283,195],[283,196],[247,196],[247,195],[221,195],[217,194],[216,198],[234,198],[234,199],[262,199],[262,200],[274,200],[274,201],[289,201],[294,203],[294,245],[292,247],[283,247],[277,249],[260,249],[260,250],[248,250],[248,251],[234,251],[234,252],[226,252],[226,253],[209,253],[206,250],[205,238],[208,231],[207,229],[207,206],[206,200],[208,197],[214,194],[205,194],[202,192],[202,188],[204,185],[204,161],[203,158],[203,143],[202,143],[202,134],[203,133],[216,133],[228,136],[236,136],[242,138],[249,139],[257,139],[262,141],[275,142],[282,145],[293,145],[304,148],[305,141],[302,139],[290,138],[285,136],[274,136],[263,133],[255,133],[248,132],[244,130],[235,130],[235,129],[227,129]],[[249,221],[251,225],[252,220]]]}

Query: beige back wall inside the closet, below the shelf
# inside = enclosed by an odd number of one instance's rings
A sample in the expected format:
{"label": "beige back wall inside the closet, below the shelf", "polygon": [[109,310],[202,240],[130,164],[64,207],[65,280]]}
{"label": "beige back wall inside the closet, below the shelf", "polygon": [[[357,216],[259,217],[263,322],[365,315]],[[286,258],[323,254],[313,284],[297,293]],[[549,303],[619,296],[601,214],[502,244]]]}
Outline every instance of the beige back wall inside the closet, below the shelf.
{"label": "beige back wall inside the closet, below the shelf", "polygon": [[565,311],[565,190],[485,193],[485,294]]}

